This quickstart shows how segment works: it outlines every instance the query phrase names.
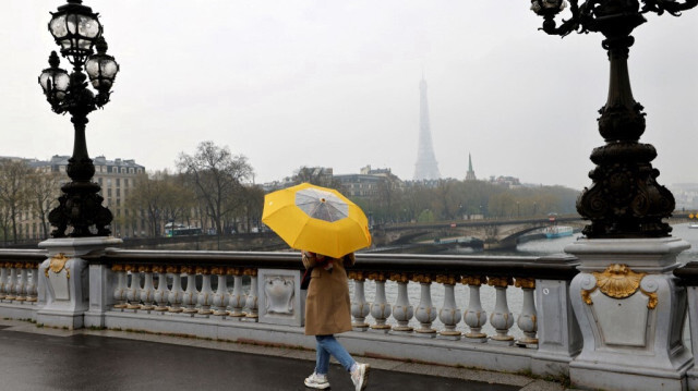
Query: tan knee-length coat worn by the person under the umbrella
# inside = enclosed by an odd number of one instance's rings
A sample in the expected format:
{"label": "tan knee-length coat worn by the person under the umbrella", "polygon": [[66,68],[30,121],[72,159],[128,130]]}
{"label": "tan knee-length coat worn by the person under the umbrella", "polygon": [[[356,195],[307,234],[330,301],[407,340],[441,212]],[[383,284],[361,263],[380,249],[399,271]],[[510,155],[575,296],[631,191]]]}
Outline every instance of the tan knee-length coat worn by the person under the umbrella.
{"label": "tan knee-length coat worn by the person under the umbrella", "polygon": [[[353,254],[346,260],[332,258],[332,272],[316,267],[311,273],[305,300],[305,335],[329,335],[351,330],[351,301],[347,266],[353,265]],[[303,252],[305,268],[317,265],[317,259]]]}

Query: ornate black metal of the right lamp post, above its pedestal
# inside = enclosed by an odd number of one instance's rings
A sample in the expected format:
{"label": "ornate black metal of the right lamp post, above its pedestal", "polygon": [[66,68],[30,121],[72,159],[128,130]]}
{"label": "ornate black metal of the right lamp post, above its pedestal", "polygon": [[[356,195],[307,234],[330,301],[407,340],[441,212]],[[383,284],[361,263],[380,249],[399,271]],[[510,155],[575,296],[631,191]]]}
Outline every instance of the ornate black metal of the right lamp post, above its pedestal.
{"label": "ornate black metal of the right lamp post, above its pedestal", "polygon": [[599,133],[604,146],[595,148],[591,161],[597,168],[589,173],[593,181],[577,200],[577,210],[591,220],[587,237],[662,237],[671,227],[662,219],[674,210],[674,197],[657,183],[659,171],[651,161],[654,147],[638,143],[645,132],[642,106],[630,89],[627,59],[635,39],[630,34],[647,22],[645,13],[681,11],[698,5],[698,0],[587,0],[578,5],[570,0],[571,17],[555,23],[555,16],[567,5],[564,0],[532,0],[531,10],[543,16],[542,30],[566,36],[577,33],[601,33],[609,52],[611,81],[606,105],[599,110]]}

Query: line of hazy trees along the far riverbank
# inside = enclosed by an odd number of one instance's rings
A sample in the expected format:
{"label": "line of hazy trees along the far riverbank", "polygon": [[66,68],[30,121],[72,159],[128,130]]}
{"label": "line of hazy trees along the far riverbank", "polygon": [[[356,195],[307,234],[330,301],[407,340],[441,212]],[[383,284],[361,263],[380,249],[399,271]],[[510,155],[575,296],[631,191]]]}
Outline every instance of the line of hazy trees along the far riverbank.
{"label": "line of hazy trees along the far riverbank", "polygon": [[[176,163],[177,172],[151,171],[135,178],[123,204],[131,212],[118,216],[115,223],[141,227],[141,235],[153,237],[179,223],[218,235],[251,232],[262,225],[265,190],[252,182],[253,168],[244,156],[231,154],[227,146],[203,142],[193,154],[181,152]],[[36,170],[21,159],[0,160],[0,230],[4,242],[28,237],[22,232],[21,221],[29,219],[38,222],[43,239],[48,237],[48,212],[57,204],[61,183],[68,180],[60,171]],[[318,168],[301,167],[285,185],[302,182],[349,195],[347,183]],[[384,175],[375,186],[370,196],[352,199],[372,224],[574,213],[579,194],[562,186],[509,188],[489,181],[402,182],[392,174]]]}

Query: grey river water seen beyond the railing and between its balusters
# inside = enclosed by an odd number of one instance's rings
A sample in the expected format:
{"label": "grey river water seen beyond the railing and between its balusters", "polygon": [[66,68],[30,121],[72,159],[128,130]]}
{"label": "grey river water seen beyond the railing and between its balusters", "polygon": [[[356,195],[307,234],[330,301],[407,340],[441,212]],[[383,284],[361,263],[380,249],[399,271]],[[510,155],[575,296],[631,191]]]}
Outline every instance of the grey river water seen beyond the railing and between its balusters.
{"label": "grey river water seen beyond the railing and between its balusters", "polygon": [[[698,230],[689,229],[688,224],[673,225],[673,229],[674,229],[672,231],[673,236],[681,237],[691,245],[691,248],[679,254],[678,260],[681,262],[698,260]],[[542,256],[542,255],[559,254],[559,253],[564,253],[565,246],[576,241],[577,237],[579,237],[580,235],[581,234],[576,233],[567,237],[542,239],[542,240],[527,242],[527,243],[520,244],[517,247],[516,252],[484,252],[484,253],[472,253],[472,254],[484,255],[484,256],[488,256],[488,255],[491,255],[491,256],[501,256],[501,255]],[[353,291],[353,284],[350,283],[349,285],[350,285],[350,290]],[[351,295],[353,297],[353,292],[351,292]],[[375,297],[375,289],[372,281],[366,281],[365,283],[365,295],[366,295],[368,302],[373,302]],[[410,283],[408,285],[408,295],[409,295],[410,304],[414,308],[417,308],[420,302],[419,284]],[[435,306],[437,309],[441,308],[441,306],[443,305],[443,295],[444,295],[444,288],[437,283],[432,284],[432,305]],[[468,306],[468,301],[469,301],[468,295],[469,295],[469,290],[467,286],[462,284],[456,285],[456,304],[458,305],[458,308],[460,309],[461,314]],[[388,303],[394,304],[396,302],[397,284],[395,282],[392,282],[392,281],[386,282],[386,296],[387,296]],[[482,301],[482,307],[484,308],[485,311],[488,311],[488,315],[491,314],[492,310],[494,309],[494,303],[495,303],[494,288],[483,285],[480,290],[480,296]],[[521,302],[522,302],[521,291],[514,286],[507,289],[507,301],[509,305],[509,311],[514,314],[514,318],[516,319],[521,310]],[[371,316],[366,318],[366,321],[373,322],[373,319],[371,318]],[[394,323],[394,321],[388,321],[388,322]],[[418,327],[419,325],[417,320],[412,319],[410,326]],[[433,327],[437,330],[441,329],[442,328],[441,321],[436,319],[434,321]],[[465,331],[467,329],[462,320],[460,321],[458,329],[461,331]],[[494,329],[492,329],[492,327],[490,327],[489,325],[483,328],[483,331],[486,332],[488,334],[494,333]],[[514,323],[514,327],[512,328],[510,333],[517,338],[521,335],[521,331],[516,326],[516,322]]]}

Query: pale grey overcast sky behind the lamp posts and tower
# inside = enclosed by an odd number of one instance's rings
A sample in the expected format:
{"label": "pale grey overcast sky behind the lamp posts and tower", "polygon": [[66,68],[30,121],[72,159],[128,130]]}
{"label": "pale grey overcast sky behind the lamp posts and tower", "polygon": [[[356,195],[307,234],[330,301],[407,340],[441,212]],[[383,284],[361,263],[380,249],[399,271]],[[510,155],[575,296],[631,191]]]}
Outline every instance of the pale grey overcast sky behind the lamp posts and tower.
{"label": "pale grey overcast sky behind the lamp posts and tower", "polygon": [[[58,47],[49,11],[63,1],[3,1],[0,155],[72,152],[69,117],[37,84]],[[203,140],[248,157],[255,182],[301,166],[412,179],[419,81],[429,85],[442,176],[582,188],[603,145],[607,91],[601,36],[539,32],[528,1],[86,0],[121,64],[112,101],[87,125],[92,157],[173,168]],[[698,182],[698,10],[647,15],[630,51],[642,142],[661,184]],[[68,69],[67,60],[62,68]]]}

